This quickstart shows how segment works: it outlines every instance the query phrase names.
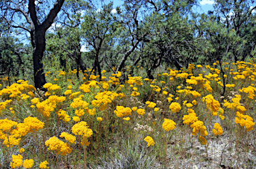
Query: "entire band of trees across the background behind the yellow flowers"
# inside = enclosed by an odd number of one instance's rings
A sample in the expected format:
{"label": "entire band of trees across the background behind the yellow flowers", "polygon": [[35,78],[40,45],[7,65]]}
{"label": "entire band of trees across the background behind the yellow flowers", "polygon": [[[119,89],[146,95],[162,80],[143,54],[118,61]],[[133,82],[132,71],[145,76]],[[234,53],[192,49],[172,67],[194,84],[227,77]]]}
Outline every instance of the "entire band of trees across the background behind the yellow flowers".
{"label": "entire band of trees across the background behind the yellow flowers", "polygon": [[101,77],[103,69],[129,75],[144,67],[151,77],[165,65],[185,69],[189,63],[255,56],[254,1],[216,0],[213,11],[202,14],[192,10],[198,5],[190,0],[128,0],[115,8],[109,1],[1,1],[0,75],[21,75],[15,67],[25,70],[33,60],[35,86],[42,88],[43,63],[53,57],[60,69],[87,75]]}

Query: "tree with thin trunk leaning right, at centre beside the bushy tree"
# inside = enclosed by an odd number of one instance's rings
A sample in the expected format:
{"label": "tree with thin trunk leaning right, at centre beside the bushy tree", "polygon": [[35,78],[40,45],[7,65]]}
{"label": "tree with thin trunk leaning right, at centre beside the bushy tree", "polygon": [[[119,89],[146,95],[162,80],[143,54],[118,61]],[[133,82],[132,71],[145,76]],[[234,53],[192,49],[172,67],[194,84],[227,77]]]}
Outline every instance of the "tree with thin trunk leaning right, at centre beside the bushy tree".
{"label": "tree with thin trunk leaning right, at centre beside the bushy tree", "polygon": [[[121,7],[117,7],[117,13],[115,13],[114,19],[119,24],[119,31],[121,31],[119,38],[120,47],[115,47],[115,58],[118,58],[119,63],[116,69],[116,73],[121,71],[125,62],[135,49],[139,48],[143,42],[149,41],[149,30],[146,29],[144,17],[147,13],[145,4],[147,2],[143,0],[127,0]],[[151,25],[153,26],[153,25]],[[134,55],[137,57],[135,63],[141,59],[141,55]],[[134,66],[134,64],[131,64]]]}

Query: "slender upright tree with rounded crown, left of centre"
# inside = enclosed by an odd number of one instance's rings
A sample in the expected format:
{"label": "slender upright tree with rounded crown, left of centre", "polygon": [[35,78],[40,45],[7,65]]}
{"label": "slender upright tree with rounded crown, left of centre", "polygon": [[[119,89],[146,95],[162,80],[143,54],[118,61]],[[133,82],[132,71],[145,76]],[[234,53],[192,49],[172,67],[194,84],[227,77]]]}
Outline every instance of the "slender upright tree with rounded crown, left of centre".
{"label": "slender upright tree with rounded crown, left of centre", "polygon": [[117,31],[117,24],[111,16],[112,10],[113,3],[103,5],[102,9],[95,7],[87,9],[81,24],[83,43],[87,45],[95,58],[92,71],[98,72],[100,79],[100,59],[103,60],[106,57],[105,53],[110,51],[109,48],[115,41],[115,31]]}

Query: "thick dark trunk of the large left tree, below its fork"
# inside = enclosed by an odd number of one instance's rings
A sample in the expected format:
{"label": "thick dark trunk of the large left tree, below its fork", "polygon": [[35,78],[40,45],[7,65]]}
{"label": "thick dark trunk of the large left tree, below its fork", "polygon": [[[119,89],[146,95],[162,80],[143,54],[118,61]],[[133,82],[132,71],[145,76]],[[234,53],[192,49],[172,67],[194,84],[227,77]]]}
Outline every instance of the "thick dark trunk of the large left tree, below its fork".
{"label": "thick dark trunk of the large left tree, below its fork", "polygon": [[[35,45],[33,45],[33,68],[35,88],[43,89],[45,85],[45,74],[43,73],[43,53],[45,51],[45,31],[35,29]],[[45,89],[43,89],[45,90]]]}

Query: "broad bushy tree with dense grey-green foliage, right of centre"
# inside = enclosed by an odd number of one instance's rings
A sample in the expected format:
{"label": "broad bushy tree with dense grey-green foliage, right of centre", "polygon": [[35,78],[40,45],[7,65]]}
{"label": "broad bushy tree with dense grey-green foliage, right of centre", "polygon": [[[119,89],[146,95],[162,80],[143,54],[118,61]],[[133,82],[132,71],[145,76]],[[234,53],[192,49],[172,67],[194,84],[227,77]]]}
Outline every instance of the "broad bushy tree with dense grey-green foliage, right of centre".
{"label": "broad bushy tree with dense grey-green foliage, right of centre", "polygon": [[150,37],[143,50],[147,75],[151,76],[153,69],[163,62],[181,69],[183,63],[195,60],[195,53],[199,51],[193,30],[195,24],[188,17],[197,1],[147,1],[145,5],[149,13],[145,17],[149,23],[145,28]]}

